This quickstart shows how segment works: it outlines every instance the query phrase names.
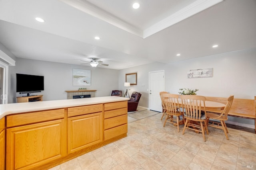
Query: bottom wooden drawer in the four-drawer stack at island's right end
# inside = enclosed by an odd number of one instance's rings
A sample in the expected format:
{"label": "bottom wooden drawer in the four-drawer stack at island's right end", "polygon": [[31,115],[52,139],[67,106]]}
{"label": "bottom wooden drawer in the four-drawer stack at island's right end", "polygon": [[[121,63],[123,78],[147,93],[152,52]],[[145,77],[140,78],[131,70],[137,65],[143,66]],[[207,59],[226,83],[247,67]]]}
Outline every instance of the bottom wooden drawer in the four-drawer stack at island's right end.
{"label": "bottom wooden drawer in the four-drawer stack at island's right end", "polygon": [[114,127],[112,129],[108,129],[104,131],[104,141],[111,139],[113,137],[116,137],[118,135],[122,135],[124,133],[127,133],[127,124]]}

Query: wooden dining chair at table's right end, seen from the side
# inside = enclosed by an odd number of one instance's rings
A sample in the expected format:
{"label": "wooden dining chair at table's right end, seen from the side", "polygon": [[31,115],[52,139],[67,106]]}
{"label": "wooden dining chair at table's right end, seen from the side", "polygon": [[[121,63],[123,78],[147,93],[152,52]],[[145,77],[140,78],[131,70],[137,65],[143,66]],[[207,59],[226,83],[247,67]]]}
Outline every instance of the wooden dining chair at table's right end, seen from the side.
{"label": "wooden dining chair at table's right end, seen from the side", "polygon": [[[209,120],[208,121],[208,126],[222,129],[225,133],[225,136],[226,136],[227,140],[229,140],[228,139],[228,134],[227,134],[228,133],[228,128],[227,128],[227,125],[226,125],[225,121],[228,120],[228,112],[229,112],[229,110],[232,106],[233,100],[234,100],[234,96],[229,96],[228,102],[227,102],[226,106],[224,107],[224,109],[221,111],[221,113],[214,113],[214,112],[208,112],[207,113],[207,116],[210,119],[220,121],[220,122],[216,122],[216,121],[213,121],[213,120]],[[221,124],[221,126],[219,126],[220,124]]]}

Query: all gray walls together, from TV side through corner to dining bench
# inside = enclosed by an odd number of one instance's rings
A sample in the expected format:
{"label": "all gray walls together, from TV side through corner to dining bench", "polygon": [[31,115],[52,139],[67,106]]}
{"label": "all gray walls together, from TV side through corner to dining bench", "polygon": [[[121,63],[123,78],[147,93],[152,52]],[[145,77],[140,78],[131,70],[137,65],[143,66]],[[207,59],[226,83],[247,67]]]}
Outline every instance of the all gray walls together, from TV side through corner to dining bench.
{"label": "all gray walls together, from TV side through corner to dining bench", "polygon": [[[122,70],[95,68],[71,64],[16,59],[16,66],[9,67],[9,103],[16,102],[15,74],[36,74],[45,76],[45,90],[42,91],[44,100],[66,99],[65,90],[77,90],[81,86],[72,86],[72,69],[81,68],[92,70],[92,86],[87,89],[97,90],[96,97],[110,96],[112,90],[122,90],[125,74],[137,72],[136,86],[130,86],[129,94],[133,91],[142,93],[139,106],[149,107],[149,72],[165,71],[165,91],[178,94],[179,88],[199,89],[198,95],[254,99],[256,96],[256,49],[248,49],[200,57],[170,64],[151,63]],[[187,71],[198,68],[213,68],[213,77],[187,78]],[[254,127],[254,120],[229,117],[233,124],[240,123]],[[242,123],[242,124],[241,124]],[[244,124],[243,124],[244,123]]]}

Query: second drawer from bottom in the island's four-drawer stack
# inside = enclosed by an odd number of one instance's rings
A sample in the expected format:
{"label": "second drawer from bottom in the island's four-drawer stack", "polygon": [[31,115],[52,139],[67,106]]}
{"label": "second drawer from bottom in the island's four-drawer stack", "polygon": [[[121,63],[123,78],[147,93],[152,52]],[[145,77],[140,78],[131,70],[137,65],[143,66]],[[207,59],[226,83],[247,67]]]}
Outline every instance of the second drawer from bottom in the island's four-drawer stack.
{"label": "second drawer from bottom in the island's four-drawer stack", "polygon": [[127,115],[112,117],[104,120],[104,130],[127,123]]}

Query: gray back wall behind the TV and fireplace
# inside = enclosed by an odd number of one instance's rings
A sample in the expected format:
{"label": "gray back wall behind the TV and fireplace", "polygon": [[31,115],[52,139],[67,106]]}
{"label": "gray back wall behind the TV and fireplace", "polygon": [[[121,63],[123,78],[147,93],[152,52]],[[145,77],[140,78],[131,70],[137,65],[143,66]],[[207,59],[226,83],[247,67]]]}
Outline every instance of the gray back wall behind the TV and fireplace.
{"label": "gray back wall behind the TV and fireplace", "polygon": [[[73,86],[73,68],[91,70],[91,86]],[[17,58],[16,66],[9,67],[8,103],[16,103],[16,97],[24,96],[24,94],[16,93],[16,73],[44,76],[44,91],[32,94],[44,95],[44,101],[67,99],[65,90],[87,88],[97,90],[95,97],[100,97],[110,96],[112,90],[118,89],[118,70]]]}

